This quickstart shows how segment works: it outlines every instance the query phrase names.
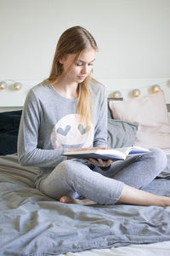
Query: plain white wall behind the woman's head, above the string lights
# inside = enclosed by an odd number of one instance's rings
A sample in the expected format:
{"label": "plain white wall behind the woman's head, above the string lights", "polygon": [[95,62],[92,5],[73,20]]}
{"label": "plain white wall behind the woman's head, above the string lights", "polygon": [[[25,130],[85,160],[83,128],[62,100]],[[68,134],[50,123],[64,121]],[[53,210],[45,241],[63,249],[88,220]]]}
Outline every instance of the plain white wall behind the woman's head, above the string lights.
{"label": "plain white wall behind the woman's head, above the string lights", "polygon": [[47,78],[60,34],[76,25],[99,45],[95,78],[170,77],[170,0],[0,0],[0,14],[0,80]]}

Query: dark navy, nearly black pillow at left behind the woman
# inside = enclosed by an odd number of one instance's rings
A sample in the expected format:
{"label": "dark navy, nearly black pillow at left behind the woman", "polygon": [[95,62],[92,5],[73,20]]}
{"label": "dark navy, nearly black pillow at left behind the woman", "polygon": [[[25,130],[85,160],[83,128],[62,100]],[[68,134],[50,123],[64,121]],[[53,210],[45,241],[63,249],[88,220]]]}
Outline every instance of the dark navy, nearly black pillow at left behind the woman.
{"label": "dark navy, nearly black pillow at left behind the woman", "polygon": [[0,154],[17,152],[21,113],[21,110],[0,113]]}

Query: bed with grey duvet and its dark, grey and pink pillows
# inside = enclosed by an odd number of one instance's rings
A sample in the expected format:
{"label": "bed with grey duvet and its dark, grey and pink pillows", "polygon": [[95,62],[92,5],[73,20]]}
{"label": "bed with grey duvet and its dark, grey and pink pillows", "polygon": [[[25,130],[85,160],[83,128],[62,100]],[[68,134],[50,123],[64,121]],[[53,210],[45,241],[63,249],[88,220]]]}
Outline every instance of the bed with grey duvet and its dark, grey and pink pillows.
{"label": "bed with grey duvet and its dark, grey and pink pillows", "polygon": [[[131,101],[108,99],[109,146],[162,148],[167,166],[143,189],[170,196],[169,104],[163,91],[135,101],[134,107]],[[170,207],[61,204],[35,189],[37,168],[20,166],[16,154],[22,110],[2,110],[0,255],[169,255]]]}

